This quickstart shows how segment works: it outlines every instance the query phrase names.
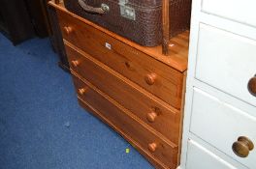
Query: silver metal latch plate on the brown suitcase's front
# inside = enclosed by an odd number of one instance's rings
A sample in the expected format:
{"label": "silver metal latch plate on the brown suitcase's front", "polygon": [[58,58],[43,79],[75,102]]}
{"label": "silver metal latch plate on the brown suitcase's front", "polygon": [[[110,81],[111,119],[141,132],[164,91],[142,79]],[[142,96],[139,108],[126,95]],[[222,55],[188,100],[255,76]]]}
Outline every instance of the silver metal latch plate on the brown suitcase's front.
{"label": "silver metal latch plate on the brown suitcase's front", "polygon": [[129,18],[131,20],[136,20],[135,9],[126,6],[128,0],[119,0],[120,13],[123,17]]}

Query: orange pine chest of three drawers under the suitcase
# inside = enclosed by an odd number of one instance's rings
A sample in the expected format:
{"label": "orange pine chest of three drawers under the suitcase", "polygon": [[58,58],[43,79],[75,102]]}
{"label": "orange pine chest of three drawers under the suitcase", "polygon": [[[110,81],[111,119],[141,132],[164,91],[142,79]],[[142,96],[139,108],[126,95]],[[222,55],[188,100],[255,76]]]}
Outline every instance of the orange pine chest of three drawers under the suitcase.
{"label": "orange pine chest of three drawers under the suitcase", "polygon": [[156,168],[179,162],[188,32],[161,46],[123,39],[55,7],[80,105],[128,140]]}

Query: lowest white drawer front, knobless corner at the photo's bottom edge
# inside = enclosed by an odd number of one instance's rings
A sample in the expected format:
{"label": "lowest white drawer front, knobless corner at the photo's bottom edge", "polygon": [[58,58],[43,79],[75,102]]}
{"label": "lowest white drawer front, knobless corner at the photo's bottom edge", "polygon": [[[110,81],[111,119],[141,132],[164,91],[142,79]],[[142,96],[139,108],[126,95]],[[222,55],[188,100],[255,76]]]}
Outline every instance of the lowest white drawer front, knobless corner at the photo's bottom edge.
{"label": "lowest white drawer front, knobless corner at the photo's bottom edge", "polygon": [[193,140],[188,141],[186,169],[236,169]]}

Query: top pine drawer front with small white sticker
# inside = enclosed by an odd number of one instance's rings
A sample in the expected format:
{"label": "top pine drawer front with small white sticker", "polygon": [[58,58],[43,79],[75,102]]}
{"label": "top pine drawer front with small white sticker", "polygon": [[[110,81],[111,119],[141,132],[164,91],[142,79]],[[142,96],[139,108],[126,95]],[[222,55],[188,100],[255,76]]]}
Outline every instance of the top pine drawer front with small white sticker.
{"label": "top pine drawer front with small white sticker", "polygon": [[[183,74],[143,52],[110,37],[69,14],[59,13],[65,40],[76,44],[100,62],[118,71],[147,91],[180,108]],[[73,31],[67,33],[67,26]],[[69,32],[69,31],[68,31]]]}

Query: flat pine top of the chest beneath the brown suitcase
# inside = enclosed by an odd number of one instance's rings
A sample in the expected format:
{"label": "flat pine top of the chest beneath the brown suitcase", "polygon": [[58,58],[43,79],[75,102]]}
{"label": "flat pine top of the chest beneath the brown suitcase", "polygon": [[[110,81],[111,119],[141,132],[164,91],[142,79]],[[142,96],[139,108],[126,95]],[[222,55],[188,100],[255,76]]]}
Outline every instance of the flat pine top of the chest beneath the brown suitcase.
{"label": "flat pine top of the chest beneath the brown suitcase", "polygon": [[120,41],[120,42],[125,42],[127,45],[130,45],[131,47],[134,47],[142,52],[144,54],[147,54],[149,57],[152,57],[176,70],[179,70],[181,72],[187,70],[187,56],[188,56],[188,39],[189,39],[189,31],[185,31],[184,33],[181,33],[177,35],[176,37],[172,38],[170,40],[170,45],[169,45],[169,50],[170,54],[168,56],[165,56],[162,54],[162,46],[158,45],[155,47],[144,47],[142,45],[139,45],[135,42],[131,42],[121,36],[118,36],[114,33],[112,33],[109,30],[106,30],[96,24],[94,24],[91,21],[88,21],[77,14],[73,14],[65,9],[63,4],[56,5],[54,2],[50,1],[48,3],[52,7],[56,8],[58,13],[65,13],[69,14],[74,19],[78,19],[84,24],[87,24],[89,26],[92,26],[96,28],[97,30],[106,33],[107,35],[111,36],[113,39]]}

